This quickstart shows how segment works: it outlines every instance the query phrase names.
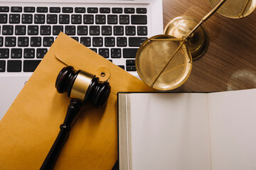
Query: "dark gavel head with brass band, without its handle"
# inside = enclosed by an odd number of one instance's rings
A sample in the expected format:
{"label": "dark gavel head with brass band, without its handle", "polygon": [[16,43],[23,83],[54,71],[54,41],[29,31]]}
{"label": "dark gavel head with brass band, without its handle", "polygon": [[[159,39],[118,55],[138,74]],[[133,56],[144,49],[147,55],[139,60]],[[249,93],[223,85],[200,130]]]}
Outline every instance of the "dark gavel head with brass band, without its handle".
{"label": "dark gavel head with brass band, without its handle", "polygon": [[95,107],[103,106],[110,96],[111,86],[108,81],[99,81],[95,75],[78,70],[71,66],[64,67],[55,82],[60,94],[68,92],[68,97],[82,103],[92,103]]}

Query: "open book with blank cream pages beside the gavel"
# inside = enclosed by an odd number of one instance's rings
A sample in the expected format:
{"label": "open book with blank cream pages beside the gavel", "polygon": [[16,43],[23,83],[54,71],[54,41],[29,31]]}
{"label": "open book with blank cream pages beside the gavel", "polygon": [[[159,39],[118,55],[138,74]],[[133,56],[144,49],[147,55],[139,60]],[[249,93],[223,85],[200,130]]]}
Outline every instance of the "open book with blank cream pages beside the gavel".
{"label": "open book with blank cream pages beside the gavel", "polygon": [[119,169],[256,169],[256,89],[119,93]]}

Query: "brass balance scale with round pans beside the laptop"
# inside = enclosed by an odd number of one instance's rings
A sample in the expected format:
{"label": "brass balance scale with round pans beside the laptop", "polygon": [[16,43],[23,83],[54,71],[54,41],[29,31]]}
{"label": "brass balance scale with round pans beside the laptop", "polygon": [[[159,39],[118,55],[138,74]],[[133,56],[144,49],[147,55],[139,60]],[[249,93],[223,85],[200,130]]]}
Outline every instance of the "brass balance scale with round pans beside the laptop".
{"label": "brass balance scale with round pans beside the laptop", "polygon": [[210,4],[213,9],[201,21],[179,16],[167,24],[164,35],[142,43],[135,61],[142,81],[161,91],[181,86],[191,73],[193,61],[208,48],[208,33],[202,23],[215,11],[228,18],[244,18],[256,8],[256,0],[210,0]]}

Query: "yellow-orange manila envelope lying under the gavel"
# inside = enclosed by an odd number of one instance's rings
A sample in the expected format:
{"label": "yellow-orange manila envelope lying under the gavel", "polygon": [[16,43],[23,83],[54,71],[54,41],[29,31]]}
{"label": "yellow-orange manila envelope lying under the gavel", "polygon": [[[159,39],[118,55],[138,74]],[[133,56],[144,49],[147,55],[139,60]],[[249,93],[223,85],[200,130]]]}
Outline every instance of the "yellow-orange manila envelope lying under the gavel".
{"label": "yellow-orange manila envelope lying under the gavel", "polygon": [[[105,72],[112,90],[103,108],[83,106],[55,169],[112,169],[117,161],[117,92],[153,91],[141,80],[60,33],[0,121],[0,169],[40,169],[70,102],[55,80],[63,67]],[[104,77],[103,77],[104,78]],[[143,101],[142,101],[143,103]]]}

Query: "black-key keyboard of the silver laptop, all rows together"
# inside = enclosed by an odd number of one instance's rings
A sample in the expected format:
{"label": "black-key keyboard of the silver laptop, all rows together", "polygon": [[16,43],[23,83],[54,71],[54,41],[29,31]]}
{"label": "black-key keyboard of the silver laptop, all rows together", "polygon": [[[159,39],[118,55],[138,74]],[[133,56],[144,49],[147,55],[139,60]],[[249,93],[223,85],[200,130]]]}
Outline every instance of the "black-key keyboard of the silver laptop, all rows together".
{"label": "black-key keyboard of the silver laptop, all rows together", "polygon": [[33,72],[60,31],[128,72],[148,35],[146,8],[0,6],[0,72]]}

